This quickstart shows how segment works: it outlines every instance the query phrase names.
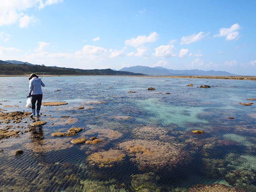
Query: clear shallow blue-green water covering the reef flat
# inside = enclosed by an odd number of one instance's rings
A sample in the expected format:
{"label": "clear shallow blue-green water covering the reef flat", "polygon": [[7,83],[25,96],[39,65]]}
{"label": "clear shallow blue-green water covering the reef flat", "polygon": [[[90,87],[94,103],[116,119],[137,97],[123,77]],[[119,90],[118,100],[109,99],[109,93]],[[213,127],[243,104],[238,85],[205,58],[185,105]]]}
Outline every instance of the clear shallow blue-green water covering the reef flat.
{"label": "clear shallow blue-green water covering the reef flat", "polygon": [[[256,82],[121,76],[42,80],[43,102],[68,104],[42,106],[46,116],[35,120],[46,121],[45,125],[24,132],[32,122],[27,118],[19,123],[24,128],[16,128],[24,134],[0,140],[0,191],[138,191],[131,184],[132,175],[147,172],[155,173],[155,187],[160,191],[213,183],[255,190],[256,175],[243,178],[256,174],[256,101],[252,106],[239,102],[253,102],[246,98],[256,98]],[[25,108],[28,83],[27,77],[0,77],[3,112],[30,111]],[[190,83],[194,87],[185,86]],[[200,85],[214,87],[198,88]],[[148,87],[156,90],[147,91]],[[76,109],[78,106],[85,109]],[[0,129],[5,126],[1,123]],[[73,137],[51,136],[71,127],[84,130]],[[197,129],[205,133],[193,134]],[[73,138],[91,136],[103,142],[70,143]],[[149,151],[132,153],[127,145]],[[24,153],[14,156],[18,149]],[[109,149],[118,149],[125,157],[109,167],[87,160],[89,155]],[[242,171],[242,179],[234,171]]]}

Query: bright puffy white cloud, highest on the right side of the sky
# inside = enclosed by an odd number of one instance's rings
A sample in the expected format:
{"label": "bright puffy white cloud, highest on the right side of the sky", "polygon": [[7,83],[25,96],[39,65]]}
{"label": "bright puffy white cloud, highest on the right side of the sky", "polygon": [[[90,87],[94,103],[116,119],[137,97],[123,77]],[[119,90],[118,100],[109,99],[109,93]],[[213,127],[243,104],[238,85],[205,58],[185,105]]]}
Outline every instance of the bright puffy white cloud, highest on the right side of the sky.
{"label": "bright puffy white cloud, highest on the right side of the sky", "polygon": [[238,23],[235,23],[230,28],[220,28],[219,34],[214,35],[214,37],[226,37],[227,41],[236,40],[239,38],[238,30],[242,29]]}

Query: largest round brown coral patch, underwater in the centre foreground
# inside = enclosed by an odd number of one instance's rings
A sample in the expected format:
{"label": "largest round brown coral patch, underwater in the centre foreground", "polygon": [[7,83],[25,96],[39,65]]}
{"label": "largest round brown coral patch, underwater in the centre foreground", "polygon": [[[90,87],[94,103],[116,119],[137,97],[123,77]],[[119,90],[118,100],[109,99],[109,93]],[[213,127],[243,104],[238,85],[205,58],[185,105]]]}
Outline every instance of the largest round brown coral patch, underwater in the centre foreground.
{"label": "largest round brown coral patch, underwater in the centre foreground", "polygon": [[172,170],[190,160],[183,145],[148,140],[130,140],[119,144],[119,147],[131,156],[140,170]]}

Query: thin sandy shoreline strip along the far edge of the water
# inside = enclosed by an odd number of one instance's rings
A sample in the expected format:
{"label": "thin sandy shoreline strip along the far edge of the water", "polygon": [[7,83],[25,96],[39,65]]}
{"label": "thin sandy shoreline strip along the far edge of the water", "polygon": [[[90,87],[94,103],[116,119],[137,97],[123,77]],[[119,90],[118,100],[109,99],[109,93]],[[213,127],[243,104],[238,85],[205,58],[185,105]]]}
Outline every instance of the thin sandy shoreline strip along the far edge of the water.
{"label": "thin sandy shoreline strip along the far edge of the water", "polygon": [[[29,75],[0,75],[0,77],[29,77]],[[131,76],[131,75],[44,75],[44,76],[129,76],[129,77],[159,77],[159,78],[205,78],[205,79],[233,79],[256,81],[256,76]],[[40,77],[40,75],[39,75]]]}

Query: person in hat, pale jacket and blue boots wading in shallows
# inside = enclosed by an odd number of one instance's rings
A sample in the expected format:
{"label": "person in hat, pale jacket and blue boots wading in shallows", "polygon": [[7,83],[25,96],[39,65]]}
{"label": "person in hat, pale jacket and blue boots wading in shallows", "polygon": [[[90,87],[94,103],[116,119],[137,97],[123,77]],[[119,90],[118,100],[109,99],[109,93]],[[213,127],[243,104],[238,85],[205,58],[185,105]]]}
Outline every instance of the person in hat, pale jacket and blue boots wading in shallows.
{"label": "person in hat, pale jacket and blue boots wading in shallows", "polygon": [[[32,115],[35,116],[37,113],[37,117],[40,116],[40,108],[42,104],[43,92],[41,86],[44,87],[44,83],[35,73],[31,73],[29,79],[29,94],[28,97],[32,97]],[[36,104],[37,101],[37,104]],[[37,106],[37,107],[36,107]],[[36,108],[36,109],[35,109]]]}

